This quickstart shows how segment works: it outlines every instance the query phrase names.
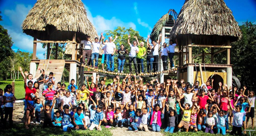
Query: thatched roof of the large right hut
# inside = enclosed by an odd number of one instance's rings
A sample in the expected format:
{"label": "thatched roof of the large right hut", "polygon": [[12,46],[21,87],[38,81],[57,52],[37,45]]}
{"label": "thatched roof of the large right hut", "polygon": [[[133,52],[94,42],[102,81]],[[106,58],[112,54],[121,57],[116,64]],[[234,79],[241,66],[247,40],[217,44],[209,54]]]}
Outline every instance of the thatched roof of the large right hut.
{"label": "thatched roof of the large right hut", "polygon": [[223,0],[186,0],[170,33],[171,38],[203,35],[213,36],[214,39],[228,38],[230,42],[242,36],[231,10]]}

